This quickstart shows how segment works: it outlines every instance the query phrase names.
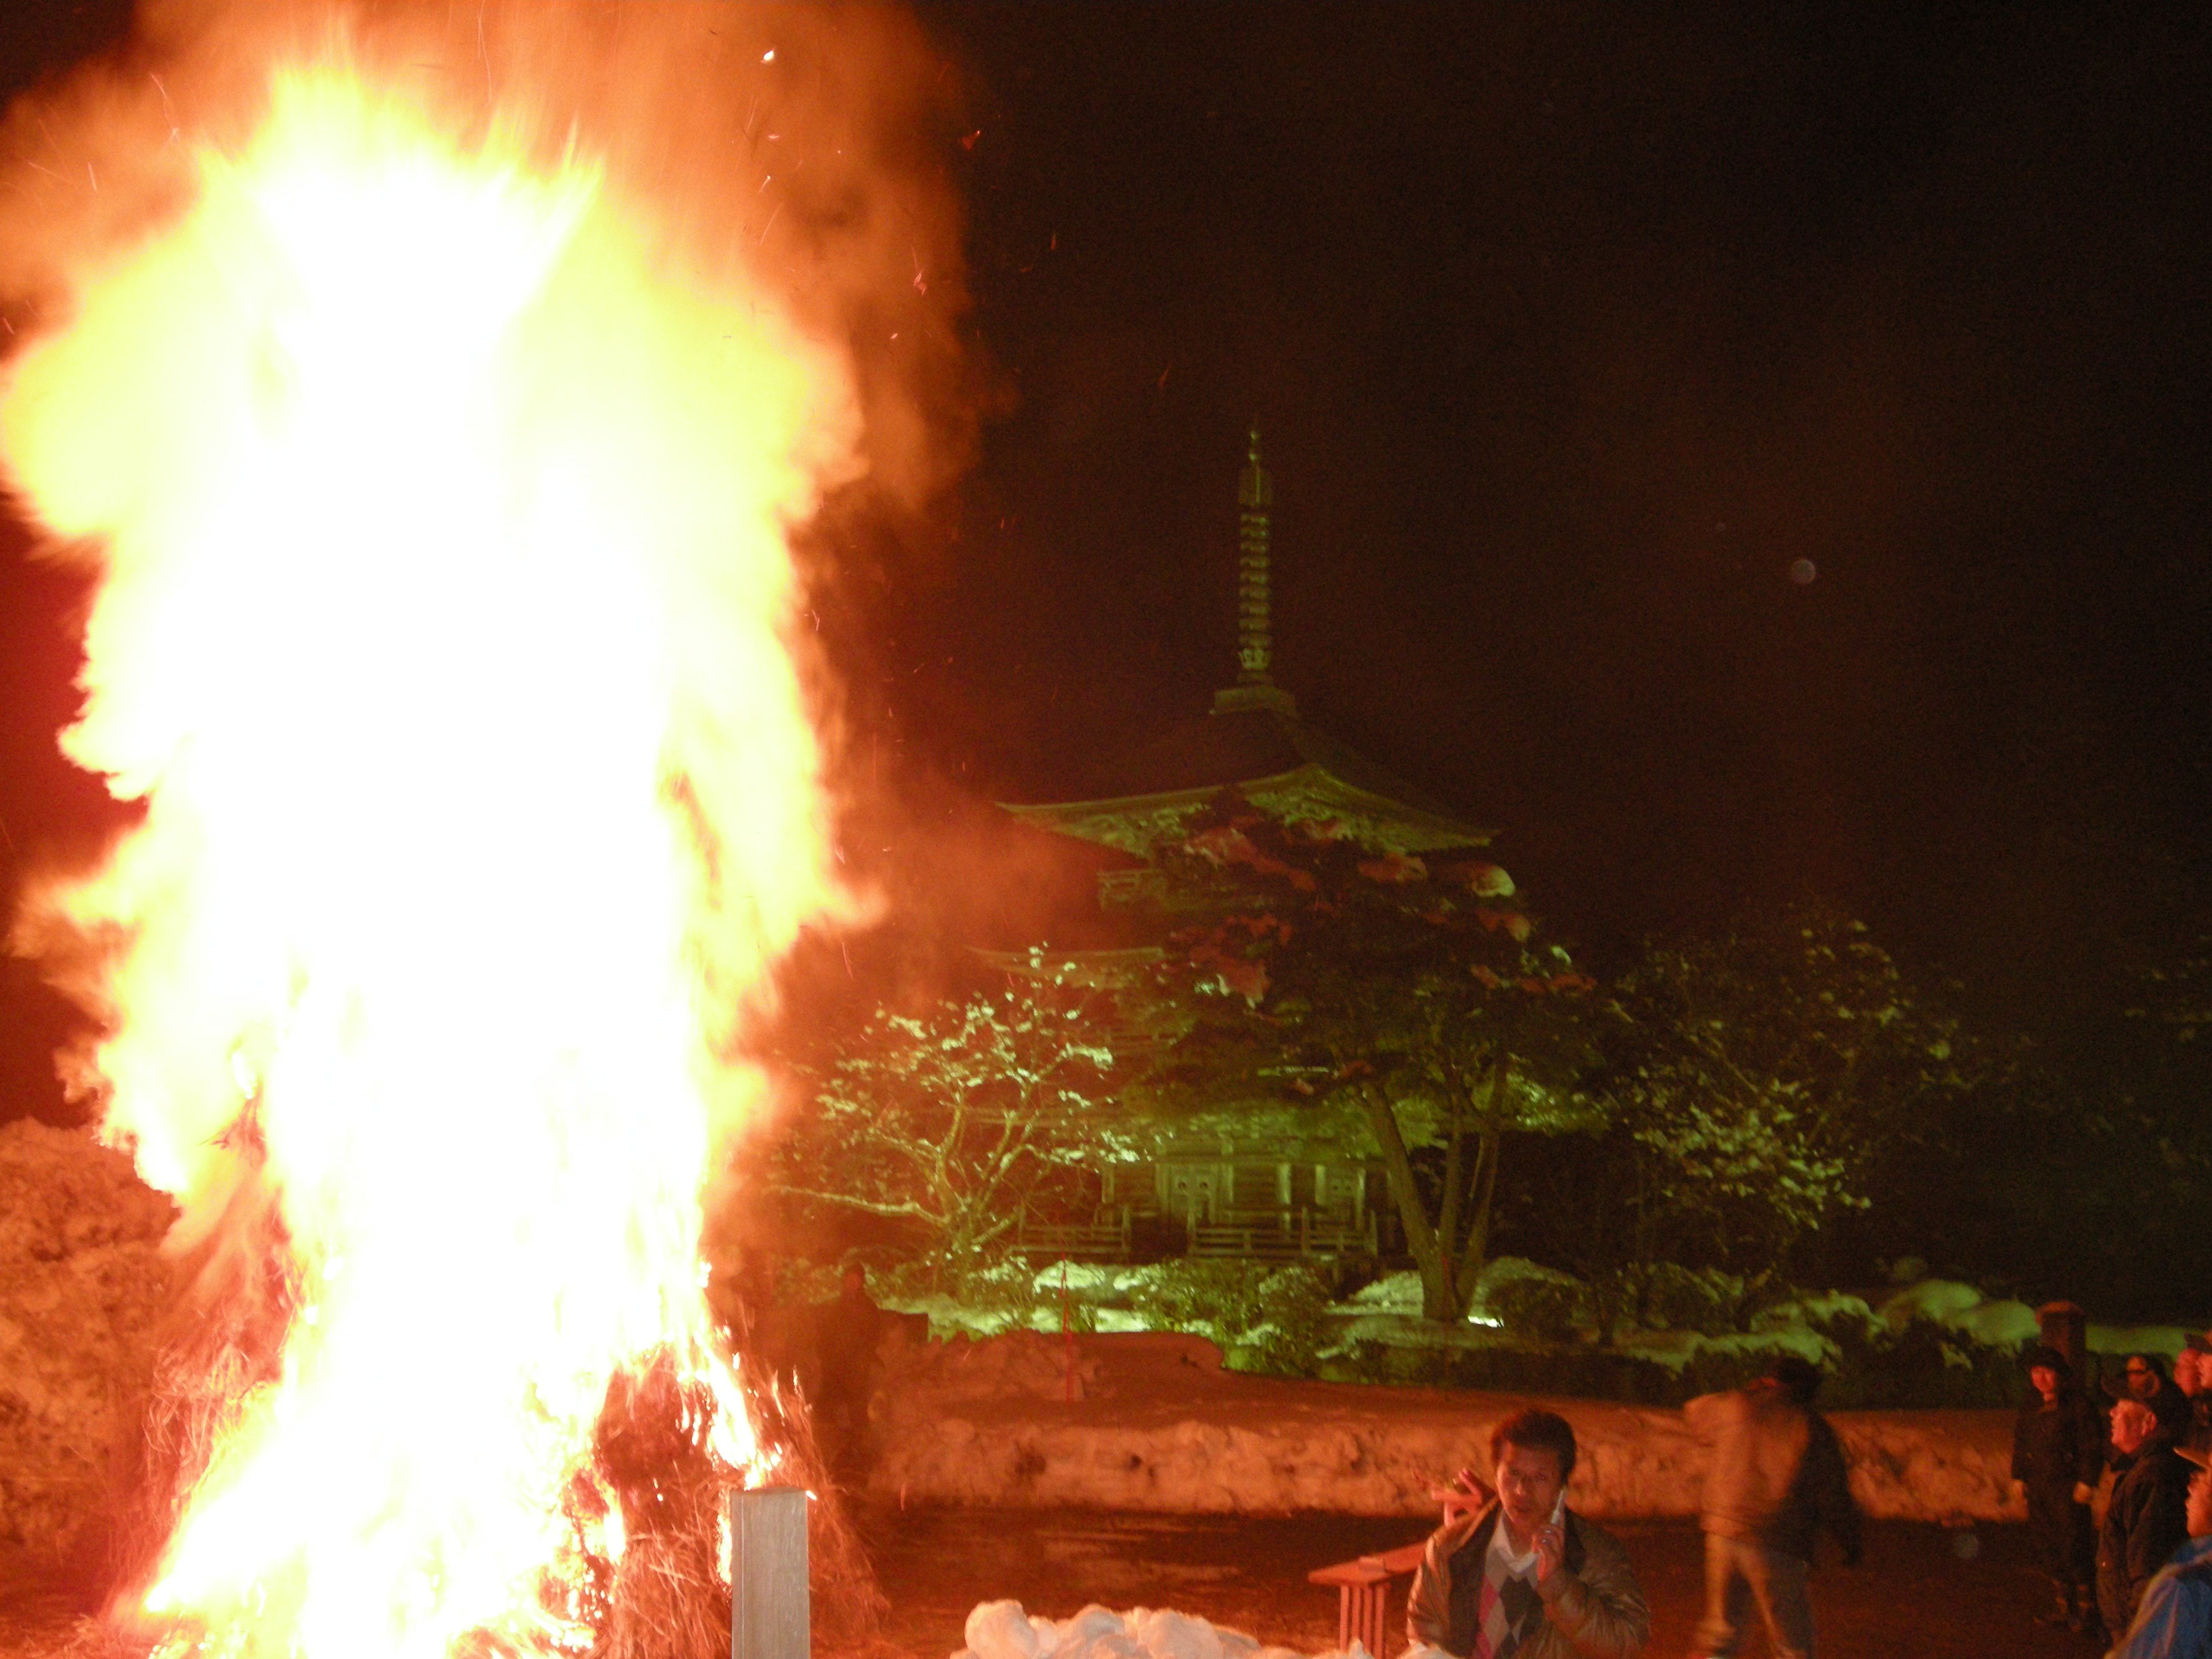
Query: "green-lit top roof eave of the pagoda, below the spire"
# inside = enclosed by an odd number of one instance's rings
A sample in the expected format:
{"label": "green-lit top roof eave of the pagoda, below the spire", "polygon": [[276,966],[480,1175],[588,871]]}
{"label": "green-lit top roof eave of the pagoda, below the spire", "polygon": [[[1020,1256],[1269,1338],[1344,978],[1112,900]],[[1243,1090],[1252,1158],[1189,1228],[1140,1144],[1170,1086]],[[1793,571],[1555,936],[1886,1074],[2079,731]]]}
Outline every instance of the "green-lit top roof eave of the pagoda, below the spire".
{"label": "green-lit top roof eave of the pagoda, below the spire", "polygon": [[1285,823],[1347,823],[1363,845],[1391,852],[1442,852],[1447,847],[1486,847],[1495,832],[1425,807],[1363,790],[1329,772],[1318,761],[1234,783],[1203,783],[1188,790],[1124,794],[1097,801],[1000,803],[1000,810],[1040,827],[1057,830],[1077,841],[1150,856],[1152,847],[1212,803],[1223,790],[1237,790],[1263,812]]}

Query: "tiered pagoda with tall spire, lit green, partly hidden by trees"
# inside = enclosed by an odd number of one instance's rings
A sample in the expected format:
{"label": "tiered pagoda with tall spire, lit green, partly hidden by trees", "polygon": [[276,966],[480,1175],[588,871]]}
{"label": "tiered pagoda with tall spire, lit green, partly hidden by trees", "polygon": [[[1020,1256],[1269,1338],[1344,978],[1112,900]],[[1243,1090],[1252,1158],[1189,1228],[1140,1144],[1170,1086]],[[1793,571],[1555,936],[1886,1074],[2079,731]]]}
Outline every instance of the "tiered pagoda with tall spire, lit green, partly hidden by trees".
{"label": "tiered pagoda with tall spire, lit green, partly hidden by trees", "polygon": [[[1082,779],[1079,799],[1002,803],[1024,825],[1110,849],[1097,874],[1097,907],[1130,945],[1068,953],[1106,980],[1157,960],[1157,940],[1190,918],[1190,896],[1172,889],[1157,854],[1181,841],[1223,790],[1283,823],[1332,823],[1336,834],[1378,852],[1427,854],[1482,847],[1491,838],[1301,721],[1292,695],[1274,684],[1274,480],[1261,465],[1259,425],[1237,480],[1237,507],[1234,684],[1214,692],[1210,710],[1097,765]],[[1009,958],[1006,967],[1015,962]],[[1396,1214],[1365,1135],[1327,1133],[1256,1099],[1221,1102],[1219,1113],[1164,1139],[1146,1164],[1102,1164],[1097,1219],[1040,1228],[1035,1243],[1113,1254],[1117,1239],[1126,1248],[1130,1237],[1177,1230],[1192,1254],[1396,1250]]]}

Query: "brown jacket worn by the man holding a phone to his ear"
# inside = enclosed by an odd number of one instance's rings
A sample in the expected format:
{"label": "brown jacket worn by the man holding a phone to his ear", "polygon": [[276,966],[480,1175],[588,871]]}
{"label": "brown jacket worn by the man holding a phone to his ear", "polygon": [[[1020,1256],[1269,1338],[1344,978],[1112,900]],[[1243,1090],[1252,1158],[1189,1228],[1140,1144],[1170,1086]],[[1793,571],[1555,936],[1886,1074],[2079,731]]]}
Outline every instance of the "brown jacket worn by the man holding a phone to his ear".
{"label": "brown jacket worn by the man holding a phone to his ear", "polygon": [[[1473,1652],[1471,1608],[1480,1595],[1453,1597],[1451,1586],[1473,1582],[1480,1588],[1498,1524],[1498,1504],[1491,1502],[1480,1515],[1460,1515],[1429,1535],[1405,1606],[1405,1628],[1416,1646]],[[1559,1571],[1535,1588],[1544,1599],[1544,1621],[1528,1632],[1515,1659],[1632,1659],[1650,1639],[1652,1615],[1628,1566],[1628,1551],[1573,1509],[1566,1511]]]}

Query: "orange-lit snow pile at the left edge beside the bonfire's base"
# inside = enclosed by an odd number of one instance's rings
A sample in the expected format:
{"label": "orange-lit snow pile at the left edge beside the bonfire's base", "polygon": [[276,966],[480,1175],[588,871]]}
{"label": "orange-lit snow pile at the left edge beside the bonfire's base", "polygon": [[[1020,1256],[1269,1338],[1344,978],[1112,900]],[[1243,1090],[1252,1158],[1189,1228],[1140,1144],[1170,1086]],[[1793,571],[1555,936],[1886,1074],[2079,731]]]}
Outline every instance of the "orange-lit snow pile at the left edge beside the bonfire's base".
{"label": "orange-lit snow pile at the left edge beside the bonfire's base", "polygon": [[88,1135],[0,1126],[0,1544],[53,1553],[104,1495],[153,1376],[170,1214]]}

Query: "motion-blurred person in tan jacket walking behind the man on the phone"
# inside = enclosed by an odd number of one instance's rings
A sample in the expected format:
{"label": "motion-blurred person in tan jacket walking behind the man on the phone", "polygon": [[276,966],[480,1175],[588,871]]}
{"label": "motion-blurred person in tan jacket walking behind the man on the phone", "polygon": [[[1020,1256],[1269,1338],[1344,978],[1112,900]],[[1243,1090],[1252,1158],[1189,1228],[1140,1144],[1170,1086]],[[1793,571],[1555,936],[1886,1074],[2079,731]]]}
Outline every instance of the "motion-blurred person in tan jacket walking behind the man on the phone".
{"label": "motion-blurred person in tan jacket walking behind the man on the phone", "polygon": [[1814,1531],[1825,1526],[1858,1566],[1858,1504],[1836,1431],[1818,1411],[1820,1369],[1783,1356],[1747,1389],[1703,1394],[1683,1407],[1712,1447],[1705,1469],[1705,1617],[1690,1644],[1730,1659],[1759,1608],[1774,1659],[1812,1659]]}

